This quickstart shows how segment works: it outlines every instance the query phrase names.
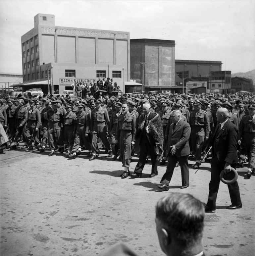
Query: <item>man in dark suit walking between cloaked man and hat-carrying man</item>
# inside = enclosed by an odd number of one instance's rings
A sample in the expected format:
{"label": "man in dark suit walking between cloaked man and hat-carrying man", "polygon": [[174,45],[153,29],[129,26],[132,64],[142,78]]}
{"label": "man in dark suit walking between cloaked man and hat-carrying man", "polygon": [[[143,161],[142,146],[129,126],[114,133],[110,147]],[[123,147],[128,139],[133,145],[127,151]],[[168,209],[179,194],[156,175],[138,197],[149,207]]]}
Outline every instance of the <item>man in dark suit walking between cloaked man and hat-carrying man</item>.
{"label": "man in dark suit walking between cloaked man and hat-carrying man", "polygon": [[159,188],[166,190],[169,189],[169,183],[177,162],[179,162],[181,170],[182,186],[180,188],[187,188],[189,186],[188,156],[190,149],[188,139],[191,129],[189,124],[181,119],[181,112],[179,110],[172,112],[171,121],[167,144],[167,171],[160,181],[163,185],[159,186]]}

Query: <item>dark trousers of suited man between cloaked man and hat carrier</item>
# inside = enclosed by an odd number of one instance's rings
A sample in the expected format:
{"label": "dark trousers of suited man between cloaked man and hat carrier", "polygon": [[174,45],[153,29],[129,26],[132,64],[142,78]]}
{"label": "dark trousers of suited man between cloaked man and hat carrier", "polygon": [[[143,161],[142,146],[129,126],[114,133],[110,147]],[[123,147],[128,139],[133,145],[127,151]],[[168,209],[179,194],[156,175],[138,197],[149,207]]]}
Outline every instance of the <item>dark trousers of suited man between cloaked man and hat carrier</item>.
{"label": "dark trousers of suited man between cloaked man and hat carrier", "polygon": [[176,156],[172,154],[169,154],[168,156],[167,170],[160,181],[161,184],[165,184],[169,186],[169,183],[172,179],[177,162],[179,162],[179,165],[180,165],[182,186],[189,185],[188,155]]}

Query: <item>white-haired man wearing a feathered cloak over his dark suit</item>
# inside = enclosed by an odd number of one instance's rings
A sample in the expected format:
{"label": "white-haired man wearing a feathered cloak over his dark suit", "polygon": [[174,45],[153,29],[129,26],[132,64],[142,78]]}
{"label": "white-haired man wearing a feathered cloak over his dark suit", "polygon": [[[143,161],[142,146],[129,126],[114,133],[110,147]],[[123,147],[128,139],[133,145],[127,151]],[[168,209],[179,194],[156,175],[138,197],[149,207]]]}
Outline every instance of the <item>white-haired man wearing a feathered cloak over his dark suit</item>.
{"label": "white-haired man wearing a feathered cloak over his dark suit", "polygon": [[134,174],[131,174],[132,179],[141,178],[148,153],[152,164],[150,177],[158,175],[157,155],[154,152],[154,148],[158,146],[163,151],[163,128],[159,114],[152,113],[150,108],[149,103],[144,103],[142,107],[143,113],[137,119],[136,137],[140,137],[140,157]]}

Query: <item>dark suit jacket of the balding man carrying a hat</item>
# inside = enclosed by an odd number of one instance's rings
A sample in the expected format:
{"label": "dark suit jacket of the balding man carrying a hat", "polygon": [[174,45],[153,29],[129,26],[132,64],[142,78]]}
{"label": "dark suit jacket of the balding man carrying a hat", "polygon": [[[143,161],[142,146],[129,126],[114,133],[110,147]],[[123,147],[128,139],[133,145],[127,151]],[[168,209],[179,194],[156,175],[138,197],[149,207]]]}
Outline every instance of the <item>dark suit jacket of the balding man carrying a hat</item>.
{"label": "dark suit jacket of the balding man carrying a hat", "polygon": [[221,130],[220,125],[216,126],[212,137],[213,156],[217,156],[222,164],[224,162],[237,163],[237,127],[230,120],[225,123]]}

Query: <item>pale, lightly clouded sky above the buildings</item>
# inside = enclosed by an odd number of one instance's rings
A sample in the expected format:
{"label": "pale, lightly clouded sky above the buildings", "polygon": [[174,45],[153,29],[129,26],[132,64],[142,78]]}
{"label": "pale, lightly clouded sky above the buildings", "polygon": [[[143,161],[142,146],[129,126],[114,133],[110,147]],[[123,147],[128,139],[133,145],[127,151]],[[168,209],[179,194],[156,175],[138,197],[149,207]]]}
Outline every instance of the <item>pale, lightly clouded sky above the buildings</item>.
{"label": "pale, lightly clouded sky above the buildings", "polygon": [[174,40],[176,60],[255,69],[255,0],[1,0],[0,72],[22,74],[21,36],[38,13],[55,26],[127,31],[130,39]]}

